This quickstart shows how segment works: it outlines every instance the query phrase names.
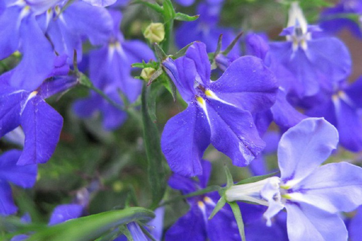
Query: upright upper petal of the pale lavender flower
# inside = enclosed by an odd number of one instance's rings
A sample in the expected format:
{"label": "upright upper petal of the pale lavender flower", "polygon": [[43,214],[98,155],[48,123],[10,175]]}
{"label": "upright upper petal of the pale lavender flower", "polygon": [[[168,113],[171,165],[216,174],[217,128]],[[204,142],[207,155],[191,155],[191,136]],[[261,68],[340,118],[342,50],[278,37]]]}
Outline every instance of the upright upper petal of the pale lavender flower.
{"label": "upright upper petal of the pale lavender flower", "polygon": [[281,138],[278,163],[281,178],[293,185],[324,162],[336,148],[338,132],[323,118],[306,118]]}

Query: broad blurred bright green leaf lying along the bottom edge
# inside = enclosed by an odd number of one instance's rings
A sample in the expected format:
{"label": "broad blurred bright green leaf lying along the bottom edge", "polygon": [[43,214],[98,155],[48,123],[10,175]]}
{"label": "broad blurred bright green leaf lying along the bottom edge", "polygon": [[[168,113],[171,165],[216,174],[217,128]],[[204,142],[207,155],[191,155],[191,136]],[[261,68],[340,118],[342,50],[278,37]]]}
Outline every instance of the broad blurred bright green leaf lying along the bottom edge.
{"label": "broad blurred bright green leaf lying along the bottom edge", "polygon": [[154,213],[142,207],[112,210],[46,227],[32,234],[28,241],[91,241],[112,228],[139,219],[149,220]]}

